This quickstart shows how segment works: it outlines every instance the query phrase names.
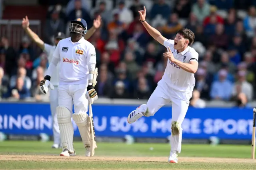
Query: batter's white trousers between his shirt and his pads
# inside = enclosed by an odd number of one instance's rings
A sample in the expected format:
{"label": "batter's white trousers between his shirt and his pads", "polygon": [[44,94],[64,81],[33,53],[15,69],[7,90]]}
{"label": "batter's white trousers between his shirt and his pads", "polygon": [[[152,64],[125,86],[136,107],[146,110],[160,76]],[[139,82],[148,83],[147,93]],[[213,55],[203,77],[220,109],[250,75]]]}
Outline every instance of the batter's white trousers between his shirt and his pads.
{"label": "batter's white trousers between his shirt and his pads", "polygon": [[87,113],[88,100],[86,99],[87,84],[81,85],[59,85],[58,101],[59,106],[66,107],[70,114]]}

